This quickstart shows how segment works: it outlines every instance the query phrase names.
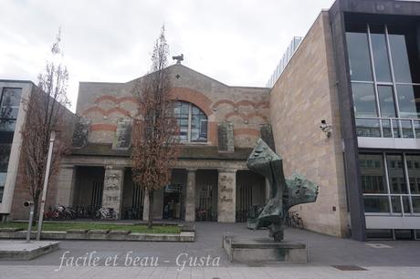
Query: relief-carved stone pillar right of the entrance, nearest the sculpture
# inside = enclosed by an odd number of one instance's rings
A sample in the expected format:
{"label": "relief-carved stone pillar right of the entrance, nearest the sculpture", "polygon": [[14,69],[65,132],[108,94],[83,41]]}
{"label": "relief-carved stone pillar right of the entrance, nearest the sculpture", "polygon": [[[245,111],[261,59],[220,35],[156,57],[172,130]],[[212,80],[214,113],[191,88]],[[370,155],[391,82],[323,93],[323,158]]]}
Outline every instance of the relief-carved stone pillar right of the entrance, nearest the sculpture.
{"label": "relief-carved stone pillar right of the entrance, nearest the sculpture", "polygon": [[217,222],[236,222],[236,170],[218,170]]}

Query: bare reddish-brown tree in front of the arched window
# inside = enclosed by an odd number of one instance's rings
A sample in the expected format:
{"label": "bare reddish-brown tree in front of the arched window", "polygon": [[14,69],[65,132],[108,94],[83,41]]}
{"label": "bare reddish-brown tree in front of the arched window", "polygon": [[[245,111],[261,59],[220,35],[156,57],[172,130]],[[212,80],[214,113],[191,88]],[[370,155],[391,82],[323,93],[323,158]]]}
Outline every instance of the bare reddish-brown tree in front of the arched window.
{"label": "bare reddish-brown tree in front of the arched window", "polygon": [[152,52],[152,70],[133,88],[139,115],[131,134],[131,167],[134,183],[149,194],[148,228],[152,228],[153,194],[171,179],[171,166],[179,152],[178,125],[174,118],[168,69],[169,47],[162,27]]}

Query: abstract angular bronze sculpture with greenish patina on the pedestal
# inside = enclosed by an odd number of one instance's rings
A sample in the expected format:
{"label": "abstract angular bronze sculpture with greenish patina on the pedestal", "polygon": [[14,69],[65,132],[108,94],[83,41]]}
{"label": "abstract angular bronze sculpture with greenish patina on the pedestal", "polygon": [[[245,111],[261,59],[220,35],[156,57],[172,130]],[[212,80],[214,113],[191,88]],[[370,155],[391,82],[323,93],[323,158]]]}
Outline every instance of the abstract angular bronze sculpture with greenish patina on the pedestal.
{"label": "abstract angular bronze sculpture with greenish patina on the pedestal", "polygon": [[261,139],[257,140],[257,146],[249,155],[247,168],[265,176],[270,185],[268,202],[250,216],[248,228],[268,227],[270,237],[275,242],[281,242],[284,237],[285,215],[289,208],[300,203],[315,202],[319,188],[299,174],[293,174],[286,180],[281,157]]}

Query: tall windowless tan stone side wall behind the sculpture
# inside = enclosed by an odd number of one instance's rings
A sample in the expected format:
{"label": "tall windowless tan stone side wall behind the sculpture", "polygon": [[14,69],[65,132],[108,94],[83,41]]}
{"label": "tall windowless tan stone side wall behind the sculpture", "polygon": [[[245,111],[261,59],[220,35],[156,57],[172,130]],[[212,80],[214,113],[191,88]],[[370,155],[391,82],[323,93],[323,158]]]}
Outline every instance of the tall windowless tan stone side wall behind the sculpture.
{"label": "tall windowless tan stone side wall behind the sculpture", "polygon": [[[328,12],[322,12],[270,92],[270,118],[284,171],[320,185],[315,203],[298,205],[306,228],[346,236],[341,121]],[[320,120],[332,125],[331,138]]]}

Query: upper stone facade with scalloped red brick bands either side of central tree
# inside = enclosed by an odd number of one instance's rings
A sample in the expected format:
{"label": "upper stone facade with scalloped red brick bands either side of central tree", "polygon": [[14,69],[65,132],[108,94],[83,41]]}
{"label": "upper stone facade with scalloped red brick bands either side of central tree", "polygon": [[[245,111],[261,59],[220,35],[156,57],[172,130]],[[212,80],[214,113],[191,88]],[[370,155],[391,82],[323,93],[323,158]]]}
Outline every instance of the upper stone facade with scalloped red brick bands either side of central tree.
{"label": "upper stone facade with scalloped red brick bands either side of central tree", "polygon": [[[194,103],[208,117],[208,145],[217,145],[217,123],[234,124],[235,146],[253,147],[269,123],[268,88],[229,87],[183,65],[169,67],[173,98]],[[179,78],[175,78],[178,76]],[[112,143],[117,123],[137,113],[128,83],[81,82],[77,113],[91,120],[89,142]]]}

